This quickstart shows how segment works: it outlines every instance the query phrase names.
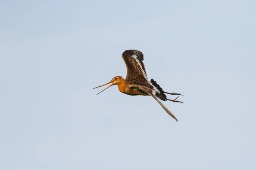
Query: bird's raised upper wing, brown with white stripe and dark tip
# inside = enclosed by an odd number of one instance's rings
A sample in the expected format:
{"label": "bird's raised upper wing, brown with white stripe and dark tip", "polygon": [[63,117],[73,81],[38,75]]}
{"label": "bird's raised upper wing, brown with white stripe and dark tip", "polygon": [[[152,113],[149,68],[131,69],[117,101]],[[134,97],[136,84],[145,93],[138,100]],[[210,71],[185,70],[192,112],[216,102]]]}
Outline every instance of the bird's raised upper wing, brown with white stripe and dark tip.
{"label": "bird's raised upper wing, brown with white stripe and dark tip", "polygon": [[[148,81],[145,66],[143,64],[143,54],[137,50],[125,50],[122,54],[127,68],[126,77],[143,77]],[[148,81],[149,82],[149,81]]]}

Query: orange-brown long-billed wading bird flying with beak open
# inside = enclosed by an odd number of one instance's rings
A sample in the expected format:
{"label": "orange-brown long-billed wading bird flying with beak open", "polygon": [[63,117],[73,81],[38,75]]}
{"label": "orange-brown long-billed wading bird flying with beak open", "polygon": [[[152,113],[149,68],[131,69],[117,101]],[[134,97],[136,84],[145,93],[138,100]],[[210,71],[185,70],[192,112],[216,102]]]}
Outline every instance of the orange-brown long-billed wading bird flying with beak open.
{"label": "orange-brown long-billed wading bird flying with beak open", "polygon": [[[176,121],[178,121],[176,117],[172,114],[172,112],[169,111],[163,105],[163,103],[160,102],[160,100],[180,102],[176,100],[179,96],[176,99],[172,100],[172,99],[167,99],[166,94],[181,95],[181,96],[182,94],[165,92],[160,87],[160,85],[158,85],[157,82],[154,81],[154,79],[151,79],[150,81],[148,80],[148,77],[145,71],[145,66],[143,64],[142,52],[138,50],[125,50],[122,54],[122,59],[125,61],[125,65],[127,68],[126,78],[123,79],[121,76],[116,76],[113,79],[111,79],[110,82],[104,85],[108,85],[111,83],[111,85],[108,86],[107,88],[111,87],[112,85],[117,85],[120,92],[131,95],[131,96],[137,96],[137,95],[152,96],[170,116],[172,116]],[[102,87],[104,85],[100,85],[96,88]],[[105,88],[102,91],[105,91],[107,88]],[[99,93],[101,93],[102,91],[100,91]],[[180,103],[183,103],[183,102],[180,102]]]}

